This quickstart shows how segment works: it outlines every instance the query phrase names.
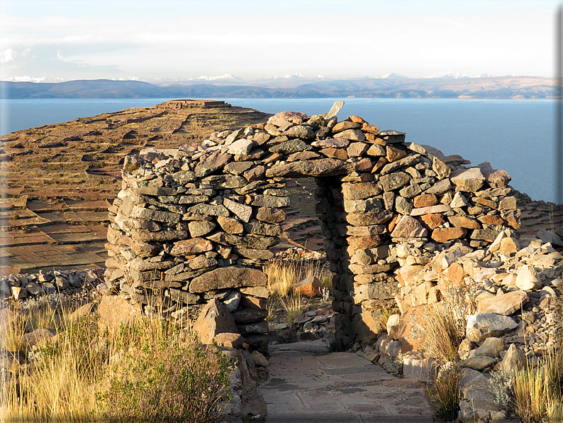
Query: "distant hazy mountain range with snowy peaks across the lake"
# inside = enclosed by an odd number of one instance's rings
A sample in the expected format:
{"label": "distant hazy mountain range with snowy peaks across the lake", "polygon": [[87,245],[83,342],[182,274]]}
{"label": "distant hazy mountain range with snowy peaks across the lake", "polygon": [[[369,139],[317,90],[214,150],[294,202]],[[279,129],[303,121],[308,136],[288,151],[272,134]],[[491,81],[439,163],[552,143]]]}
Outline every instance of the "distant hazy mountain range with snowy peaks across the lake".
{"label": "distant hazy mountain range with snowy peaks across the lake", "polygon": [[67,82],[0,82],[3,99],[126,99],[126,98],[473,98],[549,99],[555,97],[556,79],[547,77],[464,77],[445,74],[408,78],[329,79],[296,75],[255,81],[223,75],[186,81],[87,79]]}

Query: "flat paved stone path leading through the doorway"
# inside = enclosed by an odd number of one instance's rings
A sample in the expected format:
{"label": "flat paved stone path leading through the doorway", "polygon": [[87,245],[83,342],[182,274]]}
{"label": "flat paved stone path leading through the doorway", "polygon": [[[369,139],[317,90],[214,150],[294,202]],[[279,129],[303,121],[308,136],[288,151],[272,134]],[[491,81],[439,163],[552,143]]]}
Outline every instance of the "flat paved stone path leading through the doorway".
{"label": "flat paved stone path leading through the doorway", "polygon": [[260,392],[267,423],[431,423],[423,385],[398,379],[354,353],[329,353],[322,340],[269,346]]}

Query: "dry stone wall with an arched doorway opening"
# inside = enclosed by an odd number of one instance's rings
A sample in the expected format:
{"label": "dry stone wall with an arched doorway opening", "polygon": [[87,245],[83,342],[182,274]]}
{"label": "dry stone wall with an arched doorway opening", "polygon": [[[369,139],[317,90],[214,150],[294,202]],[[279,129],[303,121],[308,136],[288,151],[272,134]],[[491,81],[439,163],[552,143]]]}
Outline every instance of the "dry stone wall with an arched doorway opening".
{"label": "dry stone wall with an arched doorway opening", "polygon": [[267,353],[262,268],[282,236],[285,181],[314,177],[335,273],[336,341],[345,347],[377,336],[389,302],[439,300],[436,282],[414,292],[398,265],[425,265],[424,251],[457,240],[483,247],[518,229],[506,172],[469,167],[358,116],[339,122],[340,106],[311,117],[282,112],[198,146],[128,155],[110,209],[108,287],[145,312],[162,300],[188,309],[219,300],[250,346]]}

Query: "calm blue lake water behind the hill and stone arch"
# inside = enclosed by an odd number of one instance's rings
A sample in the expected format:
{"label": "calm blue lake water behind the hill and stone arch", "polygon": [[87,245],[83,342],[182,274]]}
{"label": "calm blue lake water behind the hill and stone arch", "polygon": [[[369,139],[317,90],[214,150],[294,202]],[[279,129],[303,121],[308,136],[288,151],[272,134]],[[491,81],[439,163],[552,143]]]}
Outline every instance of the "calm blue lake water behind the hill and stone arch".
{"label": "calm blue lake water behind the hill and stone arch", "polygon": [[[153,106],[166,99],[1,100],[0,133]],[[269,113],[325,113],[335,99],[224,99]],[[406,141],[459,154],[474,165],[491,162],[511,185],[533,199],[554,201],[554,103],[549,100],[344,99],[340,119],[362,116],[381,129],[407,133]]]}

